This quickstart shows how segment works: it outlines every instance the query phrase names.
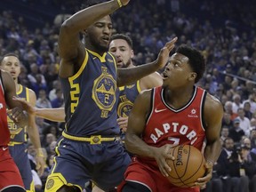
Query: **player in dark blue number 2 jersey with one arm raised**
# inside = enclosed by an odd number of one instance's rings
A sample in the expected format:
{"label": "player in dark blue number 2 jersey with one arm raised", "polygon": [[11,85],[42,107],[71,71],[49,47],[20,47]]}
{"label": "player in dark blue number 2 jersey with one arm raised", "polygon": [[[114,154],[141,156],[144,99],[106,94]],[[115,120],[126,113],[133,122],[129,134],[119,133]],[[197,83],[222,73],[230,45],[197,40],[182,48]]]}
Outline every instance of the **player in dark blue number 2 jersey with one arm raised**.
{"label": "player in dark blue number 2 jersey with one arm raised", "polygon": [[[108,52],[112,32],[109,14],[128,3],[111,0],[90,6],[60,27],[59,76],[66,129],[59,139],[45,192],[82,191],[89,180],[108,191],[121,182],[131,162],[117,139],[117,86],[132,84],[163,68],[177,38],[164,45],[155,61],[116,69],[116,58]],[[79,38],[81,32],[84,44]]]}

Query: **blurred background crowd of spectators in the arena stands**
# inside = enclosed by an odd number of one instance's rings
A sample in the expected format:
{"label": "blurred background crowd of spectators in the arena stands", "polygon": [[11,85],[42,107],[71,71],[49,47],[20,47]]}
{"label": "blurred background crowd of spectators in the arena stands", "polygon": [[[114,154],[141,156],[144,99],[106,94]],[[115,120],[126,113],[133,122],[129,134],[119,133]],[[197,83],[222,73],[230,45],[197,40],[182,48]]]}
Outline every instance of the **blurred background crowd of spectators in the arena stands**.
{"label": "blurred background crowd of spectators in the arena stands", "polygon": [[[0,55],[15,52],[20,56],[20,84],[36,92],[37,108],[63,106],[59,29],[83,4],[86,1],[0,1]],[[137,65],[155,60],[173,36],[179,37],[178,45],[189,44],[204,53],[207,72],[198,85],[218,97],[225,109],[223,151],[205,191],[236,191],[237,183],[244,186],[238,191],[256,191],[255,8],[256,4],[242,0],[140,0],[112,16],[114,30],[132,37]],[[64,126],[39,117],[36,124],[47,164],[43,177],[36,181],[40,191]],[[29,143],[28,154],[33,162],[35,149]]]}

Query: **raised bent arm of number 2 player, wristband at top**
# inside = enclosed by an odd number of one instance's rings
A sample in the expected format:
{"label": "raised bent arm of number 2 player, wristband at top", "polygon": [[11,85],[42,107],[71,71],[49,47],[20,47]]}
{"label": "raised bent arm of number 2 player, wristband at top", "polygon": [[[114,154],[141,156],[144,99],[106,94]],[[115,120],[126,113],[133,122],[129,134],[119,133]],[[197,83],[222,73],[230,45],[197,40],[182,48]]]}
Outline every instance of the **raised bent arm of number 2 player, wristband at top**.
{"label": "raised bent arm of number 2 player, wristband at top", "polygon": [[77,65],[79,68],[83,63],[85,52],[84,44],[80,40],[80,33],[84,33],[97,20],[128,3],[128,0],[111,0],[96,4],[76,12],[62,23],[58,41],[61,77],[73,76],[75,68],[72,65]]}

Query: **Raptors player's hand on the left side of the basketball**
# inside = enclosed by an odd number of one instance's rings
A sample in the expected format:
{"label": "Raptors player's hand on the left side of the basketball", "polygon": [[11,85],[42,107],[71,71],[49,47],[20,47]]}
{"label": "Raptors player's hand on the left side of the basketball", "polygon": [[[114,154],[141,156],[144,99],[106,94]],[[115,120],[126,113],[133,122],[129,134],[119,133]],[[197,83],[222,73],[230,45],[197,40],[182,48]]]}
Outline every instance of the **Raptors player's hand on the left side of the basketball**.
{"label": "Raptors player's hand on the left side of the basketball", "polygon": [[166,162],[166,159],[169,159],[172,161],[175,159],[174,156],[172,156],[170,153],[170,151],[172,150],[172,147],[173,147],[172,145],[166,144],[161,148],[154,149],[156,163],[158,164],[159,170],[164,175],[164,177],[168,177],[169,176],[168,172],[172,171],[171,167]]}

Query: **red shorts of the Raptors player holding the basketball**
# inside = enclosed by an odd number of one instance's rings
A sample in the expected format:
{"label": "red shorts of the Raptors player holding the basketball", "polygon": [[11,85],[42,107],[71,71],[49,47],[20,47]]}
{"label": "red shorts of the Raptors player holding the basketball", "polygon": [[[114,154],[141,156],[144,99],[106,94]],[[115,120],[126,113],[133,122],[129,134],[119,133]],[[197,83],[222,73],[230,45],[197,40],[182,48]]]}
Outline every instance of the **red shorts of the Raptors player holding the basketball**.
{"label": "red shorts of the Raptors player holding the basketball", "polygon": [[140,161],[138,158],[132,158],[132,164],[129,165],[124,173],[124,182],[118,186],[118,192],[122,191],[125,181],[136,182],[144,185],[152,192],[199,192],[199,188],[179,188],[173,186],[169,180],[159,171],[156,161]]}

